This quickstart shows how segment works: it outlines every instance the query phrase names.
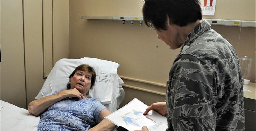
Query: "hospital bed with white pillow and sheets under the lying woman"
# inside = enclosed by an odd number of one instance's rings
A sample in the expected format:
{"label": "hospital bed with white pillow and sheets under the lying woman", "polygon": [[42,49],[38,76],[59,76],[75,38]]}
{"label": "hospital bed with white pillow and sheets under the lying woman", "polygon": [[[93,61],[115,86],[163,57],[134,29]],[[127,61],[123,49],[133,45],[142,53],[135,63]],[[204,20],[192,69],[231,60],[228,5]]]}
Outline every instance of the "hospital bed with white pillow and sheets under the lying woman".
{"label": "hospital bed with white pillow and sheets under the lying woman", "polygon": [[[61,59],[49,73],[36,99],[53,91],[67,88],[69,75],[80,64],[88,64],[95,69],[96,81],[89,90],[88,97],[98,98],[110,112],[114,112],[124,99],[122,79],[117,75],[118,63],[97,58]],[[40,117],[31,115],[28,110],[0,100],[0,131],[37,131]]]}

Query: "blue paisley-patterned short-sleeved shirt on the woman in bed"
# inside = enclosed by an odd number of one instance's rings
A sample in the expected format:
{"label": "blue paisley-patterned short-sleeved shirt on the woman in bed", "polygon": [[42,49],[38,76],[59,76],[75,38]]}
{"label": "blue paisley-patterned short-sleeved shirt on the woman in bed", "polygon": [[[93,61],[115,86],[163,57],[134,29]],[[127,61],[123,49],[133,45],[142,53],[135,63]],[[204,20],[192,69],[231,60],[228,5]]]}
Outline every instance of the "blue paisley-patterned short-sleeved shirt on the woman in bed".
{"label": "blue paisley-patterned short-sleeved shirt on the woman in bed", "polygon": [[97,124],[103,109],[105,106],[94,98],[65,98],[41,114],[38,131],[87,131]]}

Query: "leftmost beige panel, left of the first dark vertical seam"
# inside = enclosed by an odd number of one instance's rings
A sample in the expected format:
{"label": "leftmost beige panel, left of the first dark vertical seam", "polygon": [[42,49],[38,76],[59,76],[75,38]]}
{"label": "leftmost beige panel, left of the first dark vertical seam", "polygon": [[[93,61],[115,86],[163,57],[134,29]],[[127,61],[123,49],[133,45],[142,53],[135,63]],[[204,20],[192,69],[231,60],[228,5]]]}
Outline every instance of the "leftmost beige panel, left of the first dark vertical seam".
{"label": "leftmost beige panel, left of the first dark vertical seam", "polygon": [[1,100],[26,108],[21,0],[1,0]]}

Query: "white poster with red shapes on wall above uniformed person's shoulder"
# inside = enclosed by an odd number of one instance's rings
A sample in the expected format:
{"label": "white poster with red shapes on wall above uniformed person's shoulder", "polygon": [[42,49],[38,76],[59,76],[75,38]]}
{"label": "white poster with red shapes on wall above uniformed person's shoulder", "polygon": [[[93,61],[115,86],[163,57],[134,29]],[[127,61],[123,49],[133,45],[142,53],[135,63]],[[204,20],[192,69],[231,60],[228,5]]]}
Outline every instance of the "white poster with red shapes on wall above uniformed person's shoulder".
{"label": "white poster with red shapes on wall above uniformed person's shoulder", "polygon": [[201,0],[203,15],[214,16],[216,0]]}

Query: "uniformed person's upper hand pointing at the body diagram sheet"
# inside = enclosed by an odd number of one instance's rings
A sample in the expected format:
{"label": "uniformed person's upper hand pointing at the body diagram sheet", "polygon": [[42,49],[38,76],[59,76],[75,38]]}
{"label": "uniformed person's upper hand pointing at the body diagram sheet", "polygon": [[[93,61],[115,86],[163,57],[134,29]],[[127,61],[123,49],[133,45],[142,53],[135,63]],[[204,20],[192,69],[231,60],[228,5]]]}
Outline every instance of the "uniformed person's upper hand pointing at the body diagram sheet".
{"label": "uniformed person's upper hand pointing at the body diagram sheet", "polygon": [[159,114],[166,116],[167,115],[167,106],[166,106],[166,102],[157,102],[157,103],[153,103],[151,104],[146,111],[143,113],[143,115],[146,115],[150,110],[154,110],[156,112],[158,112]]}

